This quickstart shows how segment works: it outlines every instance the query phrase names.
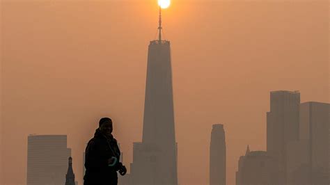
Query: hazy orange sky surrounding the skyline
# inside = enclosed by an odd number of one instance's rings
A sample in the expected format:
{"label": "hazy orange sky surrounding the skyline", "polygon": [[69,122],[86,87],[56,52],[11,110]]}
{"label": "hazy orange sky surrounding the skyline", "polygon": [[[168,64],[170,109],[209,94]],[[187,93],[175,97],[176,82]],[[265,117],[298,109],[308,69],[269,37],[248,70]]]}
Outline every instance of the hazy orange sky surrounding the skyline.
{"label": "hazy orange sky surrounding the skyline", "polygon": [[[2,184],[26,183],[29,134],[67,134],[82,184],[84,147],[102,116],[113,118],[129,166],[141,140],[157,1],[0,6]],[[266,149],[269,91],[329,102],[329,1],[172,0],[163,17],[181,185],[208,184],[215,123],[224,124],[227,184],[235,184],[246,145]]]}

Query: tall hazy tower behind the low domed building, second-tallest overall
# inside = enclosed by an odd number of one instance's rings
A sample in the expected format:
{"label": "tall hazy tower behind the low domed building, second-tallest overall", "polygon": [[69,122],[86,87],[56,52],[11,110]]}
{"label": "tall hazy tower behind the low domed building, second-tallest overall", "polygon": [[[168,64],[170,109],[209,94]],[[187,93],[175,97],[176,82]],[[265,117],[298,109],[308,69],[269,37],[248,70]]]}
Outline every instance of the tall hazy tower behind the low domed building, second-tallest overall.
{"label": "tall hazy tower behind the low domed building, second-tallest overall", "polygon": [[286,182],[287,145],[299,139],[300,93],[273,91],[270,93],[270,111],[267,112],[267,154],[278,163],[280,184]]}

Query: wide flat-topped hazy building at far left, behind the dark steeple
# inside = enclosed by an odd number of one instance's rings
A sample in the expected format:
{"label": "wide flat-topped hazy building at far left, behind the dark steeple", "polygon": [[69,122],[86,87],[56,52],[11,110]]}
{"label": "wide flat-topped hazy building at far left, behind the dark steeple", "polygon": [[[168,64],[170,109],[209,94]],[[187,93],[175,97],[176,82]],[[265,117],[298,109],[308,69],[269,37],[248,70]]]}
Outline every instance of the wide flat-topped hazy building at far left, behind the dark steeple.
{"label": "wide flat-topped hazy building at far left, behind the dark steeple", "polygon": [[68,170],[65,135],[30,135],[27,152],[27,185],[63,185]]}

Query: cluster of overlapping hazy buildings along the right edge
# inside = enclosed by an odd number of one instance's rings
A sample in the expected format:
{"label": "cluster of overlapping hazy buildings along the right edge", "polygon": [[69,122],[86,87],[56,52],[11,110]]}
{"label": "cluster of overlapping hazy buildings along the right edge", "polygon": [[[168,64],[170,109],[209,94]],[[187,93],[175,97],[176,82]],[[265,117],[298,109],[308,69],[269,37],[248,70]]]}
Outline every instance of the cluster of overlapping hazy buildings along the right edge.
{"label": "cluster of overlapping hazy buildings along the right edge", "polygon": [[239,157],[236,185],[330,183],[330,104],[300,103],[299,91],[270,92],[267,151]]}

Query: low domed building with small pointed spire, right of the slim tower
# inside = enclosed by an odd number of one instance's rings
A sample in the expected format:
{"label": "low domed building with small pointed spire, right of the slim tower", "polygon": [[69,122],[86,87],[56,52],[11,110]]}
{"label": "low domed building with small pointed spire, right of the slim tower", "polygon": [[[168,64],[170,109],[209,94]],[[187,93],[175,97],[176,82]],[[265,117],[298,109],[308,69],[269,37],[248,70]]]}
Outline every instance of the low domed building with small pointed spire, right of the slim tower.
{"label": "low domed building with small pointed spire, right of the slim tower", "polygon": [[277,182],[276,162],[265,151],[250,152],[239,157],[236,185],[274,185]]}

